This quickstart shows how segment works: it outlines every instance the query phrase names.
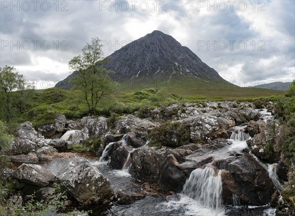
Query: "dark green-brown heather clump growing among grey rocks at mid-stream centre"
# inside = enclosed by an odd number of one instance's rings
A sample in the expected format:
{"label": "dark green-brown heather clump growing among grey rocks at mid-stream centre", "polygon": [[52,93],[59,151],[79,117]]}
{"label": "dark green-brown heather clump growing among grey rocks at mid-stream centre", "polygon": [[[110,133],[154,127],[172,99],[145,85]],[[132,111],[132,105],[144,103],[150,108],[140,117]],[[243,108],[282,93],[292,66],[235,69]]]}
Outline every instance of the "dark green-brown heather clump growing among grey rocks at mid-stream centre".
{"label": "dark green-brown heather clump growing among grey rocks at mid-stream centre", "polygon": [[166,122],[149,134],[150,146],[178,147],[190,142],[189,128],[180,122]]}

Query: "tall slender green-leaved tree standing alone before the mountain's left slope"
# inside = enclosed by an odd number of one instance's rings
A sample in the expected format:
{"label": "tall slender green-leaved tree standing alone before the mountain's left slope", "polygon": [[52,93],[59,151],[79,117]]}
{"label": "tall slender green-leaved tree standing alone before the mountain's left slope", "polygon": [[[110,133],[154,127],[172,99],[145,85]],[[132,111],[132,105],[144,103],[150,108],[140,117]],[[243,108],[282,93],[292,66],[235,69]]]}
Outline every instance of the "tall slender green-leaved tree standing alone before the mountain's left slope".
{"label": "tall slender green-leaved tree standing alone before the mountain's left slope", "polygon": [[111,94],[115,86],[109,76],[111,72],[98,68],[105,62],[101,61],[102,58],[100,39],[95,37],[82,49],[82,54],[69,61],[69,68],[78,72],[73,82],[83,91],[83,99],[91,114],[95,113],[99,100]]}

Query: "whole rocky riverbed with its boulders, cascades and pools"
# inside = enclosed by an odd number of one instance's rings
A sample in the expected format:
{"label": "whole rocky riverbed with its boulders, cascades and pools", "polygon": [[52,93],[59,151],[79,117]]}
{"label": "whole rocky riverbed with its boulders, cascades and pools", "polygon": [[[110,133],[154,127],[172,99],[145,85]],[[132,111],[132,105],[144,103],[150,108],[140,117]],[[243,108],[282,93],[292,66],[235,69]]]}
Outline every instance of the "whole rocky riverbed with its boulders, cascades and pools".
{"label": "whole rocky riverbed with its boulders, cascades and pools", "polygon": [[[270,111],[271,104],[205,102],[150,110],[146,119],[121,116],[112,128],[102,116],[59,115],[38,131],[25,122],[6,152],[20,166],[4,174],[43,197],[59,183],[67,205],[90,215],[275,215],[288,169]],[[171,127],[167,143],[178,147],[149,145],[167,122],[187,129],[188,144],[179,145],[181,131]],[[89,138],[101,142],[94,154],[71,152]],[[16,196],[23,203],[28,195]]]}

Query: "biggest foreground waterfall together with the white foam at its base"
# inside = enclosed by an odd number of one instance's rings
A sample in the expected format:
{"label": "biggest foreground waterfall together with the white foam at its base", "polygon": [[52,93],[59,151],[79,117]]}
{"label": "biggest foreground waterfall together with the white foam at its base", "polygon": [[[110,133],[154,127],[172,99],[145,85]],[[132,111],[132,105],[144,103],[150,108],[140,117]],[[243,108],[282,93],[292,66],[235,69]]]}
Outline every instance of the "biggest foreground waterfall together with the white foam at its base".
{"label": "biggest foreground waterfall together with the white foam at its base", "polygon": [[186,180],[179,201],[172,200],[158,205],[164,212],[178,209],[184,215],[224,216],[222,209],[221,171],[215,174],[211,167],[196,169]]}

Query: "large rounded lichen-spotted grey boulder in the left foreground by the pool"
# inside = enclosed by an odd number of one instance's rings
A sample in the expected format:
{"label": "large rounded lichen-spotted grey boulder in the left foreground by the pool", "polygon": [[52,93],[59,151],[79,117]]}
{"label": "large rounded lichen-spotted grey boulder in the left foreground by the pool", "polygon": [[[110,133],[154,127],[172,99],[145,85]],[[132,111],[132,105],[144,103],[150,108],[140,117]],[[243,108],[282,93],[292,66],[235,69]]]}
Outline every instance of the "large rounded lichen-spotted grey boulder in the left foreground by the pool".
{"label": "large rounded lichen-spotted grey boulder in the left foreground by the pool", "polygon": [[85,158],[73,158],[59,171],[57,179],[82,205],[107,203],[114,195],[109,180]]}

